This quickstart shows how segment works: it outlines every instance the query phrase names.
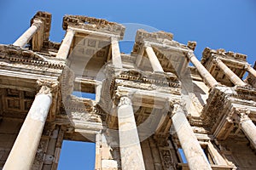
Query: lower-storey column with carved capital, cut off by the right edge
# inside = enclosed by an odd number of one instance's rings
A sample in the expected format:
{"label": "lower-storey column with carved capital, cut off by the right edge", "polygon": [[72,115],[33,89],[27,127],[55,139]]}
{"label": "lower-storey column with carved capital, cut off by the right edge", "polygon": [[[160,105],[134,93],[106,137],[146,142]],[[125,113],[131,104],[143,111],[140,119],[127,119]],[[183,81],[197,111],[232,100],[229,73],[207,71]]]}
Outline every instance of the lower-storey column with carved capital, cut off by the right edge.
{"label": "lower-storey column with carved capital, cut off by the right edge", "polygon": [[251,141],[253,147],[256,149],[256,126],[246,113],[241,113],[239,115],[241,130],[246,134],[247,139]]}

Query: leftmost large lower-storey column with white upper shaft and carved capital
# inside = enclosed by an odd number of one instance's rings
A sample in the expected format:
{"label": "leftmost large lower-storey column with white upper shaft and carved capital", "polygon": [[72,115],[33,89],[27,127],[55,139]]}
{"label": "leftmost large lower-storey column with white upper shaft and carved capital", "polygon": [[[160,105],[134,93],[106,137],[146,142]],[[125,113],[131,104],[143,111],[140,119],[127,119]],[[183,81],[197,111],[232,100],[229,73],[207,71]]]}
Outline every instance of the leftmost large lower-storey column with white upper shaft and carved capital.
{"label": "leftmost large lower-storey column with white upper shaft and carved capital", "polygon": [[4,170],[31,169],[51,102],[51,89],[43,85],[20,128],[20,133],[4,164]]}

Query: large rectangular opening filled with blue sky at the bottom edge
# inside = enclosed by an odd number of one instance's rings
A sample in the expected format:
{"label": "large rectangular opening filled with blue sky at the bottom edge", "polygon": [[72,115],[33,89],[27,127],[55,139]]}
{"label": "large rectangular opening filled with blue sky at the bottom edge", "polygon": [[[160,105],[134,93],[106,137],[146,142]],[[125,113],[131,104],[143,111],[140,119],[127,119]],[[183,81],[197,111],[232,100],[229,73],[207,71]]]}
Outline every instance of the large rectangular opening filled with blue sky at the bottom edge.
{"label": "large rectangular opening filled with blue sky at the bottom edge", "polygon": [[58,170],[94,170],[96,144],[63,140]]}

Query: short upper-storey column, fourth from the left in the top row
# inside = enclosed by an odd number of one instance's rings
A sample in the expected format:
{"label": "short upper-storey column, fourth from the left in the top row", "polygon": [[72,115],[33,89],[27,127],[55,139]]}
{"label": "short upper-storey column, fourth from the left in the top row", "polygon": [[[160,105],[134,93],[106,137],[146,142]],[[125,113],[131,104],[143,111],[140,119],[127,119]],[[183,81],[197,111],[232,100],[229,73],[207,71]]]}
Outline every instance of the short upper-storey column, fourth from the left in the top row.
{"label": "short upper-storey column, fourth from the left in the top row", "polygon": [[155,72],[164,72],[162,65],[160,65],[159,60],[157,59],[157,56],[154,54],[154,50],[150,45],[146,45],[146,52],[148,54],[148,59],[150,61],[150,64],[153,68],[153,71]]}

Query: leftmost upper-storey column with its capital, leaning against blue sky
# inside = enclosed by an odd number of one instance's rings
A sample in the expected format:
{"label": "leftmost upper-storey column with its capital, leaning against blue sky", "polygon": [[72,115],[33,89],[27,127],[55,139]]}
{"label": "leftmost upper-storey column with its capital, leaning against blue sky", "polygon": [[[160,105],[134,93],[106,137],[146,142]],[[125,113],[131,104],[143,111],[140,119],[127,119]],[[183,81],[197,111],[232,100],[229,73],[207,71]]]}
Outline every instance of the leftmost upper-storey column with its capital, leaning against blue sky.
{"label": "leftmost upper-storey column with its capital, leaning against blue sky", "polygon": [[26,46],[26,43],[31,40],[33,35],[43,26],[42,20],[34,19],[32,26],[27,29],[15,42],[13,45],[23,48]]}

